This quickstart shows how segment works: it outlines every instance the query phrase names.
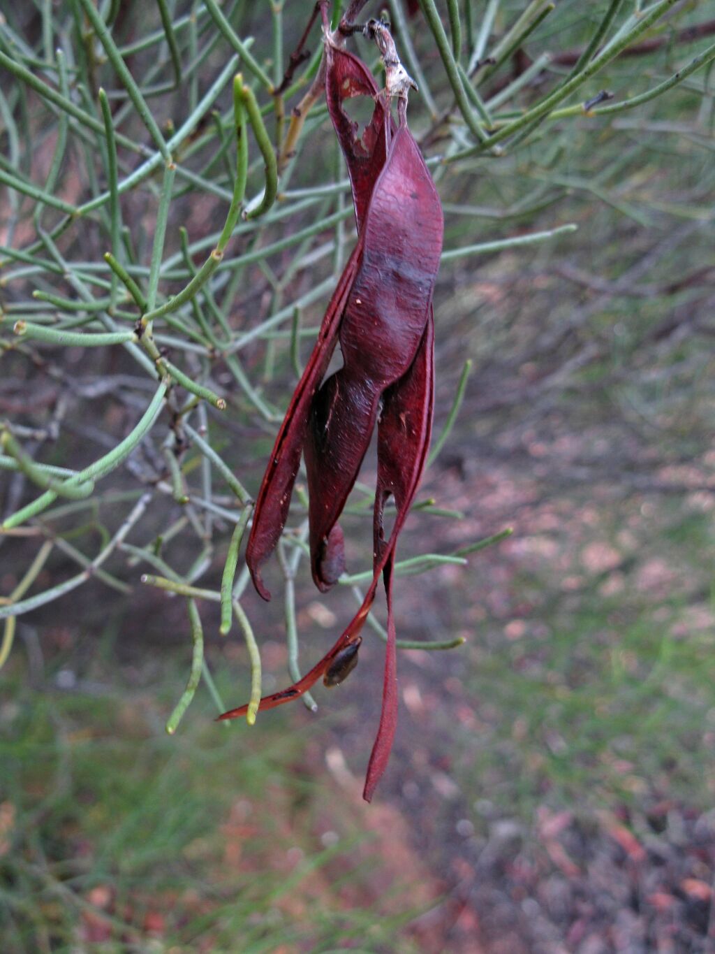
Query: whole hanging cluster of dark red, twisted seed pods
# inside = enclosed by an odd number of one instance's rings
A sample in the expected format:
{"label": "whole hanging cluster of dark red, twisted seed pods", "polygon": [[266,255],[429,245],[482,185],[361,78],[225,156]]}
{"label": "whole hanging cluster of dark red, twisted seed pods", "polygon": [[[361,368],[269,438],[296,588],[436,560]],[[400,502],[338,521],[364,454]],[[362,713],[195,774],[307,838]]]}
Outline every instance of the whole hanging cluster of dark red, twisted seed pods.
{"label": "whole hanging cluster of dark red, twisted seed pods", "polygon": [[[325,20],[325,17],[324,17]],[[355,617],[337,643],[294,685],[260,700],[261,709],[291,701],[321,676],[337,685],[357,665],[360,631],[380,575],[388,610],[388,641],[378,736],[363,797],[370,800],[384,772],[397,725],[396,632],[392,608],[398,535],[415,498],[427,458],[434,403],[432,295],[439,269],[443,220],[439,197],[407,127],[407,91],[414,86],[399,65],[385,24],[365,28],[383,55],[388,88],[341,48],[325,27],[325,90],[353,190],[358,243],[337,282],[313,354],[276,438],[255,506],[246,560],[255,589],[270,598],[261,567],[276,548],[304,454],[308,473],[311,569],[317,588],[330,589],[344,569],[337,524],[378,425],[378,486],[374,511],[373,579]],[[398,96],[398,123],[390,94]],[[374,101],[361,137],[345,99]],[[339,341],[343,366],[325,379]],[[325,379],[325,380],[323,380]],[[396,517],[385,539],[383,513],[393,497]],[[224,713],[235,718],[246,706]]]}

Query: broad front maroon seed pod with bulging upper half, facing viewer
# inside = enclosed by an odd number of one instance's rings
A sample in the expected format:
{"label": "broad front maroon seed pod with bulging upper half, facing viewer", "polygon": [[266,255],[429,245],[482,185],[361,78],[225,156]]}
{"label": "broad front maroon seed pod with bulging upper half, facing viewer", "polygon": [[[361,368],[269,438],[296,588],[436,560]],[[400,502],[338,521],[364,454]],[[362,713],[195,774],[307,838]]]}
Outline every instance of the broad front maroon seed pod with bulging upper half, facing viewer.
{"label": "broad front maroon seed pod with bulging upper half, facing viewer", "polygon": [[382,394],[415,358],[439,269],[439,197],[406,126],[392,141],[360,238],[362,256],[339,328],[343,367],[316,394],[304,447],[320,590],[335,583],[323,566],[325,541],[358,477]]}

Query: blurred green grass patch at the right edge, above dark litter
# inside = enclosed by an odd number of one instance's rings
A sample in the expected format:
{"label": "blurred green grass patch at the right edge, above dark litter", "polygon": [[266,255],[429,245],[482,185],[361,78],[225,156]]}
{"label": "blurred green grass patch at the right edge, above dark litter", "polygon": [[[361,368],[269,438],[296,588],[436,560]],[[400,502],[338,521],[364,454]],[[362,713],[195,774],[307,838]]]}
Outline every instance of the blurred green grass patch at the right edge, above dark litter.
{"label": "blurred green grass patch at the right edge, above dark litter", "polygon": [[[610,516],[625,525],[641,507]],[[460,678],[480,731],[458,731],[453,757],[473,819],[479,798],[527,823],[541,804],[590,815],[674,798],[705,811],[715,793],[709,522],[664,507],[641,521],[623,569],[584,572],[572,543],[560,540],[570,550],[560,577],[558,556],[517,570],[512,598],[530,604],[512,617],[521,629],[491,619],[470,640]],[[649,567],[660,580],[648,583]]]}

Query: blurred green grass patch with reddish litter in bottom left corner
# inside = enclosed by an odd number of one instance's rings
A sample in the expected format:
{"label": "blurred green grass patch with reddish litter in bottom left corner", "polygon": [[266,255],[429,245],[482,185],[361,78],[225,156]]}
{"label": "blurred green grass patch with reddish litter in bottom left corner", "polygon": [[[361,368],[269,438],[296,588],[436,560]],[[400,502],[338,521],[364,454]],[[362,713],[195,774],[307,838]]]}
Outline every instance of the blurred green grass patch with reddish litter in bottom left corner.
{"label": "blurred green grass patch with reddish litter in bottom left corner", "polygon": [[169,738],[129,675],[0,710],[4,952],[419,950],[401,928],[424,892],[325,797],[301,736],[219,731],[204,697]]}

